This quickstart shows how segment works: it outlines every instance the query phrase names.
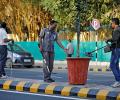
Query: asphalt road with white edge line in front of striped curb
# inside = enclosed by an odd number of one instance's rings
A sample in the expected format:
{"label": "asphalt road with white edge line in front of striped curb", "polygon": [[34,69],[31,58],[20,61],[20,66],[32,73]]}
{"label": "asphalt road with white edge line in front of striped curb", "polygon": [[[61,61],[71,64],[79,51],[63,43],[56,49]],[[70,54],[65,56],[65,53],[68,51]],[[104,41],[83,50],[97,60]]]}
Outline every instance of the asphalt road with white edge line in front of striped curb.
{"label": "asphalt road with white edge line in front of striped curb", "polygon": [[90,99],[0,90],[0,100],[90,100]]}

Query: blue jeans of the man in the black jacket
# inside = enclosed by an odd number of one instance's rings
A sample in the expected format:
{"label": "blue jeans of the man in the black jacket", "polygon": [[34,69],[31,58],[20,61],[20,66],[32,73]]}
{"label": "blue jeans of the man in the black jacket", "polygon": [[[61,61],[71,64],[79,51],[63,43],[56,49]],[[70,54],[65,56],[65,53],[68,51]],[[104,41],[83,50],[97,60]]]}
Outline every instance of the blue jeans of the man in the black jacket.
{"label": "blue jeans of the man in the black jacket", "polygon": [[115,76],[116,81],[120,82],[119,59],[120,59],[120,48],[113,49],[111,55],[110,67]]}

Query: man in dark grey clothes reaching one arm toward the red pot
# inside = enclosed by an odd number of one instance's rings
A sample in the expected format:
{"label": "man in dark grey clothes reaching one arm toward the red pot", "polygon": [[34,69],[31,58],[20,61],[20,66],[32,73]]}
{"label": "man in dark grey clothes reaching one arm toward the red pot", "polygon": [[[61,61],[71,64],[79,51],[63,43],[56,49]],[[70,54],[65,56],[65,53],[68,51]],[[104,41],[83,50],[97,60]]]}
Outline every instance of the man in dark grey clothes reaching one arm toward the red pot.
{"label": "man in dark grey clothes reaching one arm toward the red pot", "polygon": [[48,28],[44,28],[39,35],[40,50],[43,56],[43,72],[45,82],[54,82],[51,78],[51,73],[53,70],[54,63],[54,42],[66,50],[61,42],[58,40],[57,32],[55,29],[57,27],[57,22],[52,20]]}

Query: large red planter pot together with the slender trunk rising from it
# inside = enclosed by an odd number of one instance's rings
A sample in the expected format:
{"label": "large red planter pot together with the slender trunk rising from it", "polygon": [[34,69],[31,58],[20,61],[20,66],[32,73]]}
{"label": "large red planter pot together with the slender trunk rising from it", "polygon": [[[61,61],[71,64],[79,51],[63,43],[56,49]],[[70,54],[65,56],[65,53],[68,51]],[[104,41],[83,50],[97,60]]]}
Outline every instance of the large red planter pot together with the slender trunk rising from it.
{"label": "large red planter pot together with the slender trunk rising from it", "polygon": [[80,0],[77,0],[77,57],[67,58],[69,84],[86,84],[90,58],[81,58],[80,53]]}

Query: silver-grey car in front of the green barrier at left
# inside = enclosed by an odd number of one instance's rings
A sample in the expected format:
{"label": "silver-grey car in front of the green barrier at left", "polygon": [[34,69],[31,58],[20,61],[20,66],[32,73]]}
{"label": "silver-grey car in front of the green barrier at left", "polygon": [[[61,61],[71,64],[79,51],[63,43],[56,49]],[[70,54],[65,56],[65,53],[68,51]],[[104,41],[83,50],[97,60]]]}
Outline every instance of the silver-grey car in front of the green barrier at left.
{"label": "silver-grey car in front of the green barrier at left", "polygon": [[7,46],[8,56],[6,61],[6,67],[21,66],[32,67],[34,65],[34,58],[31,53],[25,51],[17,44],[9,43]]}

